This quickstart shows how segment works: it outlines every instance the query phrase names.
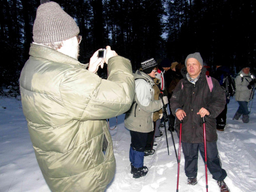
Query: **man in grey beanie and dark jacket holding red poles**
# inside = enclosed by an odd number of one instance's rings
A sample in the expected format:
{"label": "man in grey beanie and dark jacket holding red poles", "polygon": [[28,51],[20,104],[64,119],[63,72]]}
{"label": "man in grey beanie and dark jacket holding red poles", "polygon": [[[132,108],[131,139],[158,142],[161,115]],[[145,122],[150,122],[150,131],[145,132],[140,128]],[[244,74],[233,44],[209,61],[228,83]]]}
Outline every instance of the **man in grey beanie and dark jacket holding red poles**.
{"label": "man in grey beanie and dark jacket holding red poles", "polygon": [[[204,156],[204,134],[202,117],[205,117],[207,167],[212,178],[217,180],[221,192],[229,191],[224,179],[226,171],[221,167],[217,149],[216,117],[226,103],[224,90],[219,82],[206,76],[200,53],[189,54],[185,60],[187,73],[181,79],[170,99],[170,109],[175,115],[175,126],[180,133],[182,120],[182,149],[185,158],[187,184],[197,184],[198,151]],[[208,79],[207,79],[208,78]],[[204,159],[203,159],[204,160]]]}

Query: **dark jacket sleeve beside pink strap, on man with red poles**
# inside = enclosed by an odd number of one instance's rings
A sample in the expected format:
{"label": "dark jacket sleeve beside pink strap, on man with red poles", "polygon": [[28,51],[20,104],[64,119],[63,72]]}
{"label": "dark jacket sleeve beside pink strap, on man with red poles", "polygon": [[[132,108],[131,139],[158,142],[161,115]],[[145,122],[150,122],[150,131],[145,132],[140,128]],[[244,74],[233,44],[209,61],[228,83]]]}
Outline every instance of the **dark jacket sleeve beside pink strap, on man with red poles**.
{"label": "dark jacket sleeve beside pink strap, on man with red poles", "polygon": [[208,117],[216,118],[225,108],[226,96],[219,82],[214,78],[211,79],[214,87],[211,92],[211,101],[207,103],[206,109],[210,112]]}

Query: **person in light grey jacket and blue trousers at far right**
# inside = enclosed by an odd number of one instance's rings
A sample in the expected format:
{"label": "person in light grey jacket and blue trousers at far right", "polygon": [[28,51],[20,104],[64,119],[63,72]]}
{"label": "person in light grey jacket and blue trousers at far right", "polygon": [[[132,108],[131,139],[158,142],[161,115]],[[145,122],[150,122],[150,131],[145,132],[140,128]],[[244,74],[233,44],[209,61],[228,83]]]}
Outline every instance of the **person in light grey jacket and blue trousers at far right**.
{"label": "person in light grey jacket and blue trousers at far right", "polygon": [[236,82],[236,101],[239,103],[239,108],[234,114],[233,119],[238,120],[241,115],[242,121],[248,123],[249,120],[249,111],[248,111],[248,102],[252,99],[253,87],[255,85],[255,77],[250,74],[250,68],[244,67],[237,77],[234,79]]}

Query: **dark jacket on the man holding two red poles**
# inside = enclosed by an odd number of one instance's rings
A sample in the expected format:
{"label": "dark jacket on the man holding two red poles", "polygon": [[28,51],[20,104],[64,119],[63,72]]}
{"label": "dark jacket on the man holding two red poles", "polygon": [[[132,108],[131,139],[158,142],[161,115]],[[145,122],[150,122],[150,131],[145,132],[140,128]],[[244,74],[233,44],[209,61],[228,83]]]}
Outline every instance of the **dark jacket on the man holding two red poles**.
{"label": "dark jacket on the man holding two red poles", "polygon": [[[182,72],[185,76],[185,68],[183,68]],[[206,141],[217,141],[215,118],[223,111],[226,98],[224,90],[220,87],[219,82],[212,77],[213,89],[212,92],[210,92],[205,72],[206,69],[203,68],[195,85],[189,82],[186,77],[181,79],[170,99],[170,108],[172,109],[173,115],[176,116],[176,110],[178,108],[184,110],[186,113],[186,117],[183,118],[182,123],[182,142],[204,142],[202,118],[200,115],[197,115],[201,108],[205,108],[210,112],[209,116],[205,116]],[[179,133],[179,120],[176,120],[175,126]]]}

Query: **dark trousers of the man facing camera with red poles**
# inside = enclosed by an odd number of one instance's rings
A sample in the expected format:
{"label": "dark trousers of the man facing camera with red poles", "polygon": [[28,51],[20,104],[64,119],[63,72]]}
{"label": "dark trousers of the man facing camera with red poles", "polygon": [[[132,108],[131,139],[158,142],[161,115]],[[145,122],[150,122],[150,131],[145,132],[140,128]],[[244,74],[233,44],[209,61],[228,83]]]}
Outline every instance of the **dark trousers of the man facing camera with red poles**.
{"label": "dark trousers of the man facing camera with red poles", "polygon": [[[187,177],[197,177],[198,151],[204,160],[204,143],[184,143],[182,150],[185,157],[185,174]],[[224,180],[226,171],[221,168],[221,160],[218,154],[217,142],[206,143],[207,168],[215,180]],[[205,162],[205,160],[204,160]]]}

